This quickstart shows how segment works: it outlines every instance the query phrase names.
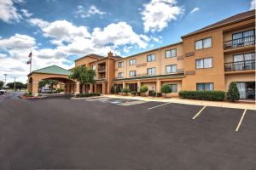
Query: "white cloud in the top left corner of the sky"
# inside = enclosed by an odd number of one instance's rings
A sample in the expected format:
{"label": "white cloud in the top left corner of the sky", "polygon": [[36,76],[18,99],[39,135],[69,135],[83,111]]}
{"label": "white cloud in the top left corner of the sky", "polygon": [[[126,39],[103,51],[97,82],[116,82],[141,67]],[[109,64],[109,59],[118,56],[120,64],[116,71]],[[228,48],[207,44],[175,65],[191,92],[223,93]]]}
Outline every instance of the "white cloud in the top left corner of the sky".
{"label": "white cloud in the top left corner of the sky", "polygon": [[0,20],[7,23],[20,21],[21,15],[15,8],[15,3],[21,3],[22,0],[1,0],[0,2]]}

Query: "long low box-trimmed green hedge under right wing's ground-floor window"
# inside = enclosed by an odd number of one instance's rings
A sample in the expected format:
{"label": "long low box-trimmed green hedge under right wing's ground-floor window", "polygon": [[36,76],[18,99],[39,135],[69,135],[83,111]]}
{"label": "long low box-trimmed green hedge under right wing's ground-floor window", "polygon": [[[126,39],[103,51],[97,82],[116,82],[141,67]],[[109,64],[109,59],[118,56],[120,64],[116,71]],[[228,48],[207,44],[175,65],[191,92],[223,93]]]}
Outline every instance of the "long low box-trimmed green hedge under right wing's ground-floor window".
{"label": "long low box-trimmed green hedge under right wing's ground-floor window", "polygon": [[210,101],[224,101],[223,91],[179,91],[179,96],[183,99],[201,99]]}

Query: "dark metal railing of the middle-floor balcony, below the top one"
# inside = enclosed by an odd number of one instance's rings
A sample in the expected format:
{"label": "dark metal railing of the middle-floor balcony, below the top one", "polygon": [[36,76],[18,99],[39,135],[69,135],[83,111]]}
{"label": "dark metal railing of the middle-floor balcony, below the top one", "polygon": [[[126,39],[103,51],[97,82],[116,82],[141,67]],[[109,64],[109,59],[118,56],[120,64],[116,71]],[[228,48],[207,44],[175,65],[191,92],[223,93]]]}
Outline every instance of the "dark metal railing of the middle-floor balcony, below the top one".
{"label": "dark metal railing of the middle-floor balcony, below the top one", "polygon": [[224,64],[225,71],[255,70],[255,60],[244,60]]}

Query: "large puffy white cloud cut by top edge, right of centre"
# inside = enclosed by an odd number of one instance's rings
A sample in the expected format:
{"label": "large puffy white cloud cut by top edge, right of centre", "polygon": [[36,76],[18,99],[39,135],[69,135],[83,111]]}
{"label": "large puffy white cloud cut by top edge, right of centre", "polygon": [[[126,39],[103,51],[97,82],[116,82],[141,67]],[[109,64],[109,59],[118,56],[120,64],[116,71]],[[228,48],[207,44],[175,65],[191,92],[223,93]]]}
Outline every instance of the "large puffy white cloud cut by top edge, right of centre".
{"label": "large puffy white cloud cut by top edge, right of centre", "polygon": [[176,0],[151,0],[143,5],[144,31],[162,31],[172,20],[183,14],[184,9],[177,6]]}

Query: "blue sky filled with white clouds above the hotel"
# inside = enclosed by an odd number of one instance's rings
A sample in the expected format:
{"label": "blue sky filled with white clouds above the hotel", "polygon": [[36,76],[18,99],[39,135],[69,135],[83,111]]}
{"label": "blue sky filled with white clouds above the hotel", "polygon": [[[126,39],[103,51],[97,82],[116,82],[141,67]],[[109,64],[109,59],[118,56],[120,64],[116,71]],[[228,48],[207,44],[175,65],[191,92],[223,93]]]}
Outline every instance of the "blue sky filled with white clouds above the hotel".
{"label": "blue sky filled with white clouds above the hotel", "polygon": [[0,81],[65,69],[86,54],[122,57],[180,42],[181,36],[255,8],[255,0],[0,0]]}

